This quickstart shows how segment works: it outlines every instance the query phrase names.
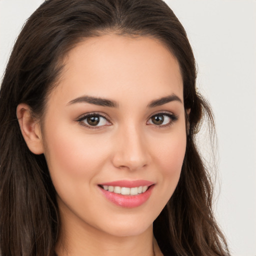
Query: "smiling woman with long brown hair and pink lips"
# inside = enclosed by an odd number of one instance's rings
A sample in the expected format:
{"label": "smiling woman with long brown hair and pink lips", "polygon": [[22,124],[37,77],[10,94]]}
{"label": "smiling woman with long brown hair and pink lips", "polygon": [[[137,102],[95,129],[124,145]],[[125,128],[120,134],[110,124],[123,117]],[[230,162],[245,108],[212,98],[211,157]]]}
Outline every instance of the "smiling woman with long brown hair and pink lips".
{"label": "smiling woman with long brown hair and pink lips", "polygon": [[195,78],[163,1],[45,1],[0,90],[1,255],[228,255]]}

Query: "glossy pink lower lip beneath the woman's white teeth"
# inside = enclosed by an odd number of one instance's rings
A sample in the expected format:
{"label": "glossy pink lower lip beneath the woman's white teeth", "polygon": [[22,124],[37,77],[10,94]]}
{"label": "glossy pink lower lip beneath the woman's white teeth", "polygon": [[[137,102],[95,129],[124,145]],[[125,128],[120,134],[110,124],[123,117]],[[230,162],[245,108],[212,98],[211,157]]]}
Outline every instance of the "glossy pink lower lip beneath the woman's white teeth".
{"label": "glossy pink lower lip beneath the woman's white teeth", "polygon": [[117,194],[114,192],[109,192],[107,190],[104,190],[103,188],[99,187],[102,191],[103,195],[114,204],[126,207],[126,208],[133,208],[138,207],[144,202],[147,201],[147,199],[150,197],[152,189],[154,185],[151,185],[148,187],[148,189],[140,194],[136,195],[123,195],[123,194]]}

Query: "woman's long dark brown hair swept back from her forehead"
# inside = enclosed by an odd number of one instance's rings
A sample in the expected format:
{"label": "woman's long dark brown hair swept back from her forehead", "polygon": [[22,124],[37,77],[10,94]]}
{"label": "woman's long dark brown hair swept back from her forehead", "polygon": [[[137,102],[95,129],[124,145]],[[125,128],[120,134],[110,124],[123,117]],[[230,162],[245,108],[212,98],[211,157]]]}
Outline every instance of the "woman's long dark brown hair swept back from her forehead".
{"label": "woman's long dark brown hair swept back from her forehead", "polygon": [[212,212],[212,184],[195,145],[211,110],[195,91],[196,67],[186,33],[162,0],[47,0],[30,16],[13,47],[0,89],[0,254],[50,256],[58,237],[56,193],[43,155],[29,151],[16,107],[43,116],[61,60],[77,42],[109,31],[151,36],[177,58],[189,134],[177,187],[153,223],[164,255],[229,255]]}

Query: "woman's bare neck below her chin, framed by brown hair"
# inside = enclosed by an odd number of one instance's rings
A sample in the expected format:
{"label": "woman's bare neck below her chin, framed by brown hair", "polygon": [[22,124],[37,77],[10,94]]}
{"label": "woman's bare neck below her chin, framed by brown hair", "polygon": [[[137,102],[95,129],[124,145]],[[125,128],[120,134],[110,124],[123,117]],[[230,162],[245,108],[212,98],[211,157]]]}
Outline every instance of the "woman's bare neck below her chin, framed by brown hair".
{"label": "woman's bare neck below her chin, framed by brown hair", "polygon": [[58,256],[130,256],[154,255],[151,228],[134,236],[116,237],[106,233],[65,233],[56,246]]}

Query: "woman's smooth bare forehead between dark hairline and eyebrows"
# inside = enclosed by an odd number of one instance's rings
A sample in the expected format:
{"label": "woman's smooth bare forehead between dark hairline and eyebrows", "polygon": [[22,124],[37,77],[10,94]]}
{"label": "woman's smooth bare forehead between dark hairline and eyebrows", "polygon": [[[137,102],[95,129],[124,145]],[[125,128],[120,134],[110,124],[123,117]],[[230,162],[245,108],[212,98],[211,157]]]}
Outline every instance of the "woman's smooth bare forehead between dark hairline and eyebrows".
{"label": "woman's smooth bare forehead between dark hairline and eyebrows", "polygon": [[175,93],[183,100],[178,61],[155,38],[114,34],[87,38],[67,53],[63,64],[53,94],[61,93],[66,102],[82,94],[119,100],[143,95],[151,100]]}

